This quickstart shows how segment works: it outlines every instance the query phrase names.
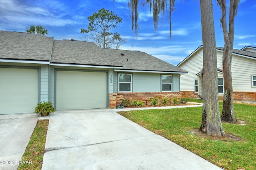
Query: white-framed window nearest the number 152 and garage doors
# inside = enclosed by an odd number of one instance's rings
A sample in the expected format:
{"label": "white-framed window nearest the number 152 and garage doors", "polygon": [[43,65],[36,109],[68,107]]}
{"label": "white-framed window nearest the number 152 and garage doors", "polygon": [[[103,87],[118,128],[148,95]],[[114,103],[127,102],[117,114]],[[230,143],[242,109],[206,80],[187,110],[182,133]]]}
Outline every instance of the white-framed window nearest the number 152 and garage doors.
{"label": "white-framed window nearest the number 152 and garage doors", "polygon": [[132,92],[132,74],[118,74],[119,92]]}

